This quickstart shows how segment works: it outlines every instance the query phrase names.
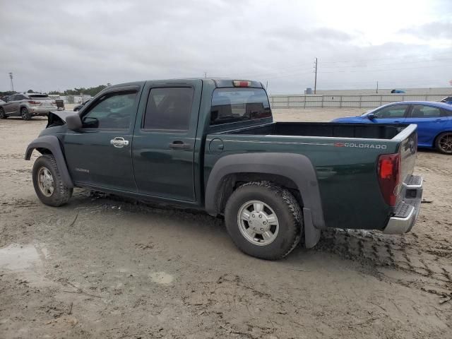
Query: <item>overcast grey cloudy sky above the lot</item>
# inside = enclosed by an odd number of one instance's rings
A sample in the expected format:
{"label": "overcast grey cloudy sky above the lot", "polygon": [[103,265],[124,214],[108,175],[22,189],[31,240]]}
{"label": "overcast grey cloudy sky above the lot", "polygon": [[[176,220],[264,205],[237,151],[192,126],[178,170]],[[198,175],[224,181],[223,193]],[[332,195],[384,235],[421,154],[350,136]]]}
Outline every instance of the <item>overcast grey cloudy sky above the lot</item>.
{"label": "overcast grey cloudy sky above the lot", "polygon": [[0,0],[0,90],[231,77],[270,93],[451,87],[452,1]]}

